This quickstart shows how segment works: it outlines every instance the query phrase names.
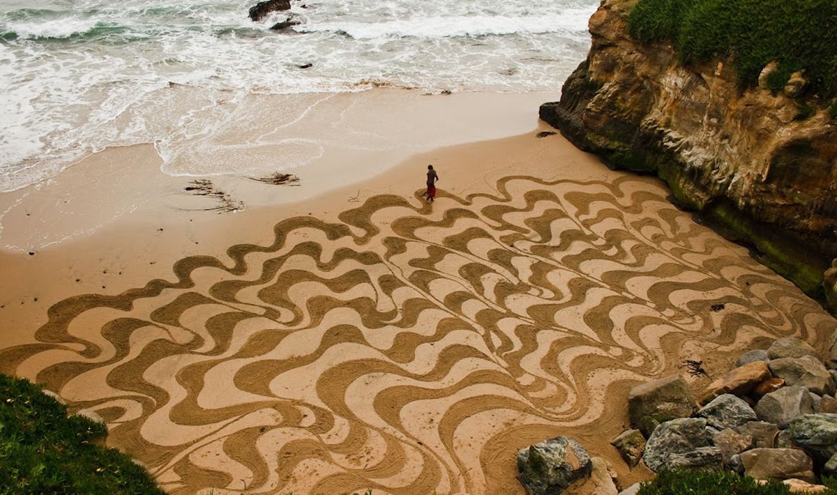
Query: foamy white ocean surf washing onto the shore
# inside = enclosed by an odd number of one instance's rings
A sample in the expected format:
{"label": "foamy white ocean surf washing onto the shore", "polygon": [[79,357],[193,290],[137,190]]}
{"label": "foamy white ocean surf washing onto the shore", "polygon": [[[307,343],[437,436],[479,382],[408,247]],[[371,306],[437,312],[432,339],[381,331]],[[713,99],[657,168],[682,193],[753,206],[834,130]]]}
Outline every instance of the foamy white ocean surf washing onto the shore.
{"label": "foamy white ocean surf washing onto the shore", "polygon": [[[174,161],[250,94],[560,89],[598,0],[0,0],[0,191],[108,146]],[[308,69],[300,66],[311,64]],[[305,100],[305,99],[302,99]],[[174,171],[177,173],[177,171]]]}

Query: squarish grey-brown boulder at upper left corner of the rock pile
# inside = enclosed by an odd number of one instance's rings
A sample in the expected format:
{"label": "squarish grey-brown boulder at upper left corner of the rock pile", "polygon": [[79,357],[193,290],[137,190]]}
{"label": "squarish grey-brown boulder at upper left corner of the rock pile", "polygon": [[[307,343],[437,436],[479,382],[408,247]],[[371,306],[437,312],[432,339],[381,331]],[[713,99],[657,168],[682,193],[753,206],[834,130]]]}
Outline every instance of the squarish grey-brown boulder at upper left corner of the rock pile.
{"label": "squarish grey-brown boulder at upper left corner of the rock pile", "polygon": [[695,396],[680,375],[636,385],[628,394],[630,424],[644,436],[650,436],[660,423],[689,417],[695,411]]}

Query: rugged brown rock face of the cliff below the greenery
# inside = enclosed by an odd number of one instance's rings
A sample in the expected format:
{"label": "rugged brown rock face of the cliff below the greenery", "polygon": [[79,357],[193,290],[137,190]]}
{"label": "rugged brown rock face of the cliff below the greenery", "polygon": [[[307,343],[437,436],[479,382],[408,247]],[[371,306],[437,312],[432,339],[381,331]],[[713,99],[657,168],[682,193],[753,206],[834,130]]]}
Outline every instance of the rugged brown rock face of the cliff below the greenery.
{"label": "rugged brown rock face of the cliff below the greenery", "polygon": [[798,75],[783,94],[742,90],[732,60],[684,67],[670,43],[635,41],[634,3],[593,14],[588,59],[542,120],[609,166],[656,173],[675,202],[837,308],[837,269],[824,277],[837,258],[837,125],[793,98]]}

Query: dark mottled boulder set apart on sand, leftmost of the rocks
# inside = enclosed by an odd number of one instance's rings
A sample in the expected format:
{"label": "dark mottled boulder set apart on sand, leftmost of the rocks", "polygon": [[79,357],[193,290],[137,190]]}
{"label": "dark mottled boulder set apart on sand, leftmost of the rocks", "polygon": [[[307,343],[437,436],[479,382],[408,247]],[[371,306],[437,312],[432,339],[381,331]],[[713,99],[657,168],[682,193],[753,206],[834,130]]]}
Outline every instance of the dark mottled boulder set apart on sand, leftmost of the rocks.
{"label": "dark mottled boulder set apart on sand, leftmost of the rocks", "polygon": [[590,476],[593,463],[578,441],[556,436],[517,452],[517,479],[532,495],[561,493],[570,484]]}

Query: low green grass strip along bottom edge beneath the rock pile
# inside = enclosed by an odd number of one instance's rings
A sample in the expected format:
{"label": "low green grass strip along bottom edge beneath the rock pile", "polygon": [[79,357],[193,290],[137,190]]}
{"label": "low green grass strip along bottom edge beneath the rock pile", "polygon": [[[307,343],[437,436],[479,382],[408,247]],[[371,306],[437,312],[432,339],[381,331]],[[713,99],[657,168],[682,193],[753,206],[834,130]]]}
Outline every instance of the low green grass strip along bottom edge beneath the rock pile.
{"label": "low green grass strip along bottom edge beneath the rock pile", "polygon": [[[827,478],[823,495],[837,495],[837,480]],[[650,482],[643,482],[637,495],[786,495],[787,485],[770,481],[759,485],[752,477],[729,471],[675,470],[660,472]]]}

